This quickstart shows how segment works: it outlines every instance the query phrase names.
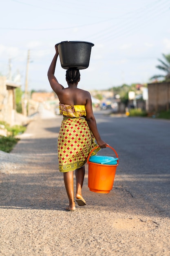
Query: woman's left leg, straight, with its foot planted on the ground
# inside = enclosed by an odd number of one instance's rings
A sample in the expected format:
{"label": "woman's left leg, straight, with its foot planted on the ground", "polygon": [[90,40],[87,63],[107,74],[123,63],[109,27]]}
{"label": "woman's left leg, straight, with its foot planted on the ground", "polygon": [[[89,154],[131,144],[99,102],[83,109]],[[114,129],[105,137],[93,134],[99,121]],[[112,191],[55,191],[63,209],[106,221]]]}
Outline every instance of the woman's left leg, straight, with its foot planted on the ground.
{"label": "woman's left leg, straight, with its foot planted on the ground", "polygon": [[75,209],[75,201],[74,201],[74,179],[73,179],[73,171],[64,173],[64,184],[66,187],[66,192],[68,195],[69,206],[68,209]]}

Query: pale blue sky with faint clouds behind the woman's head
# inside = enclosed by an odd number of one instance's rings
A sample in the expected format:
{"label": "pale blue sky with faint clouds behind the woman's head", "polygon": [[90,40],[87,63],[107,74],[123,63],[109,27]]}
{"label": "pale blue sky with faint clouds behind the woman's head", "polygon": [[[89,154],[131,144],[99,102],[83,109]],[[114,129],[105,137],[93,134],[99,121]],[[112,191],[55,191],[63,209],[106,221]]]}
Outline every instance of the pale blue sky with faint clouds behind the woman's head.
{"label": "pale blue sky with faint clouds behind the woman's head", "polygon": [[[108,90],[124,83],[148,83],[163,74],[156,65],[170,54],[169,0],[5,0],[0,15],[0,75],[20,74],[28,90],[51,91],[47,78],[62,41],[94,43],[79,88]],[[57,60],[55,76],[67,87]]]}

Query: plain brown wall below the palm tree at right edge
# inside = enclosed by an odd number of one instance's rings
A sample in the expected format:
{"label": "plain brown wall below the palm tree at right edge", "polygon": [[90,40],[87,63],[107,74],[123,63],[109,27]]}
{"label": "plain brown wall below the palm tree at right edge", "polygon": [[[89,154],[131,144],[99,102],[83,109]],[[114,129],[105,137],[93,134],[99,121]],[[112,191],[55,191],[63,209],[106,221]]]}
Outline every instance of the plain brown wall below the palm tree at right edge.
{"label": "plain brown wall below the palm tree at right edge", "polygon": [[170,82],[148,84],[148,112],[170,109]]}

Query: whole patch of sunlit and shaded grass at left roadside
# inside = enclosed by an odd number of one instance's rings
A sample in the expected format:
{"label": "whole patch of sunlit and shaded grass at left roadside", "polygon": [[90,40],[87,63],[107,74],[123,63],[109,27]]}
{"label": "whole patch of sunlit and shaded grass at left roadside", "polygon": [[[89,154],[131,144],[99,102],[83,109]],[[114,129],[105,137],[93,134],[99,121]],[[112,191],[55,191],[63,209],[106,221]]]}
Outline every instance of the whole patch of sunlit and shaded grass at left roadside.
{"label": "whole patch of sunlit and shaded grass at left roadside", "polygon": [[23,133],[26,130],[26,127],[18,125],[10,126],[3,121],[0,121],[0,124],[7,130],[7,136],[0,135],[0,150],[9,153],[19,141],[15,136]]}

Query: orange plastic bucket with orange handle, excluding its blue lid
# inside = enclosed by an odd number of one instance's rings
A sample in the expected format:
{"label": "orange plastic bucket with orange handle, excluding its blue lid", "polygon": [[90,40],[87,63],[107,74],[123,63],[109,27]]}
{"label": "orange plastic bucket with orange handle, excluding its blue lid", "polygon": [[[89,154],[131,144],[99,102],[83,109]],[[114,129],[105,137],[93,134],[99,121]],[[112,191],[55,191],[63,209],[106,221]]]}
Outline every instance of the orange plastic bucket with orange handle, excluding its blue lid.
{"label": "orange plastic bucket with orange handle, excluding its blue lid", "polygon": [[[99,146],[96,146],[93,148],[91,153],[98,148]],[[114,148],[107,146],[111,148],[118,158],[117,152]],[[87,158],[87,164],[88,164],[88,187],[90,191],[96,192],[96,193],[110,193],[110,190],[113,188],[113,182],[115,179],[116,174],[116,167],[119,164],[119,160],[117,160],[117,164],[111,165],[111,164],[98,164],[89,162],[89,158],[91,156],[91,153],[89,153]]]}

